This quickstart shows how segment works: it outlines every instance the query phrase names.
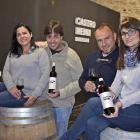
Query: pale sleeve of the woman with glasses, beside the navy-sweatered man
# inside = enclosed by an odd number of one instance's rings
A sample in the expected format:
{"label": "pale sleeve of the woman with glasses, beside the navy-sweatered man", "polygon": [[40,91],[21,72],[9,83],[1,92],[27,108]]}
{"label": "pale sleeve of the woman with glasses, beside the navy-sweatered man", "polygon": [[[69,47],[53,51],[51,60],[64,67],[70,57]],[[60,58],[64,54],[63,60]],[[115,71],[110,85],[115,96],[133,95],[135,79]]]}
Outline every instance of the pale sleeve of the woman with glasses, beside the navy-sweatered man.
{"label": "pale sleeve of the woman with glasses, beside the navy-sweatered man", "polygon": [[121,94],[121,90],[122,90],[121,75],[122,75],[121,71],[117,70],[116,77],[111,85],[111,89],[115,93],[116,97],[118,97],[119,94]]}

